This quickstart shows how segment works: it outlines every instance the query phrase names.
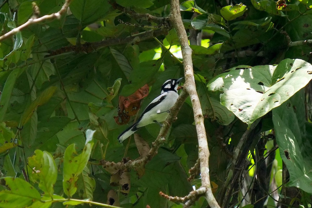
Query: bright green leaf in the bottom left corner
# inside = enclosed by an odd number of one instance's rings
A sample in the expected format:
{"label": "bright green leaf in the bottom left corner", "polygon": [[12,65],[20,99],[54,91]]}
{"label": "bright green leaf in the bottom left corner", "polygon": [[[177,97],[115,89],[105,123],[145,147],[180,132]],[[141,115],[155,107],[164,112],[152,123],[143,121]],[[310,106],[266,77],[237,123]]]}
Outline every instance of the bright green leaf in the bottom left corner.
{"label": "bright green leaf in the bottom left corner", "polygon": [[41,199],[39,192],[25,180],[13,177],[4,177],[3,179],[10,190],[0,191],[0,207],[22,208]]}

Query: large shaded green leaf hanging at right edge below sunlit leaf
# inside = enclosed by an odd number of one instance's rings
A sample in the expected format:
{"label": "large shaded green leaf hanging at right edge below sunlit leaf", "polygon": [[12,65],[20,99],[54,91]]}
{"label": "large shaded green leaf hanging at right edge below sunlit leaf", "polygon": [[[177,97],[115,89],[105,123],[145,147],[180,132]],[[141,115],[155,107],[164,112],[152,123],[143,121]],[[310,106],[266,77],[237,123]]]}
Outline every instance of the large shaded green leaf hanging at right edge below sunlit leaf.
{"label": "large shaded green leaf hanging at right edge below sunlit leaf", "polygon": [[305,91],[272,110],[276,143],[289,171],[287,186],[312,194],[312,125],[305,123]]}

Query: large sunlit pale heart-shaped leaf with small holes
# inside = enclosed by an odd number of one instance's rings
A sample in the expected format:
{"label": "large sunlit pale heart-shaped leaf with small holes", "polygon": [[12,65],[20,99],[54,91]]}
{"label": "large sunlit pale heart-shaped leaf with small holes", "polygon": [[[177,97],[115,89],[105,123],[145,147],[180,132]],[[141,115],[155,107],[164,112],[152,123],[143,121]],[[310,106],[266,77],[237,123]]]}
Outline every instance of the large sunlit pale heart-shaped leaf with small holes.
{"label": "large sunlit pale heart-shaped leaf with small holes", "polygon": [[300,59],[278,65],[239,65],[212,79],[210,91],[221,91],[221,104],[251,125],[280,106],[312,79],[312,66]]}

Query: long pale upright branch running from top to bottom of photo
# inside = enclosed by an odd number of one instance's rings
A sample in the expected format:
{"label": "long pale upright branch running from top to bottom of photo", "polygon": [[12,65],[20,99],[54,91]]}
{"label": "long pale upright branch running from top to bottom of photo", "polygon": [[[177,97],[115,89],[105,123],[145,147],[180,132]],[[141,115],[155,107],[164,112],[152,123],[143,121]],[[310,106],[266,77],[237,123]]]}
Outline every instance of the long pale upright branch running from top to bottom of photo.
{"label": "long pale upright branch running from top to bottom of photo", "polygon": [[192,49],[188,45],[188,37],[185,28],[183,26],[180,13],[180,4],[178,0],[171,0],[170,21],[176,28],[179,37],[179,42],[181,44],[184,65],[184,76],[185,76],[184,88],[190,95],[194,111],[194,120],[198,138],[198,158],[200,160],[202,187],[206,188],[205,197],[210,207],[220,208],[215,197],[212,194],[212,189],[210,185],[209,166],[208,166],[210,153],[208,149],[206,130],[204,126],[204,117],[202,115],[202,109],[195,86],[193,62],[192,62]]}

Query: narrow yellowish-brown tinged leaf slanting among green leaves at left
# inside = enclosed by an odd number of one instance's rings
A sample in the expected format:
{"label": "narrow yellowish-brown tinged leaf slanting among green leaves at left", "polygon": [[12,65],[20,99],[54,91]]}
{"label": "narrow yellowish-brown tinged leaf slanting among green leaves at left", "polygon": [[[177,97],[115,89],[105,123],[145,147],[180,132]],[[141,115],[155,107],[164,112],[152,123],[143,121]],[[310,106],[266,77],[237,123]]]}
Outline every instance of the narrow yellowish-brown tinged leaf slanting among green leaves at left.
{"label": "narrow yellowish-brown tinged leaf slanting among green leaves at left", "polygon": [[45,104],[54,94],[56,87],[52,86],[44,90],[24,111],[21,119],[22,126],[32,117],[39,105]]}

